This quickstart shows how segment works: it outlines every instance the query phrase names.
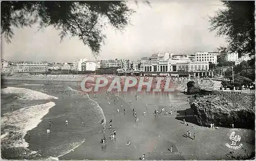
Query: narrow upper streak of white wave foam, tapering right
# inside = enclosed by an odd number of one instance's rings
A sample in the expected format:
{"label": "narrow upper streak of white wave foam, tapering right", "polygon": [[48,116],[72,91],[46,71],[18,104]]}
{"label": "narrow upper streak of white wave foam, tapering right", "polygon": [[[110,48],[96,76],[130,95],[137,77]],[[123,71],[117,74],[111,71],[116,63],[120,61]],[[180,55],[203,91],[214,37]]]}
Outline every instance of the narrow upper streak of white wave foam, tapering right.
{"label": "narrow upper streak of white wave foam, tapering right", "polygon": [[26,88],[17,88],[17,87],[7,87],[3,88],[1,90],[2,94],[21,94],[23,95],[23,99],[29,99],[29,100],[34,100],[34,99],[58,99],[58,97],[54,97],[45,93],[33,91],[30,89]]}

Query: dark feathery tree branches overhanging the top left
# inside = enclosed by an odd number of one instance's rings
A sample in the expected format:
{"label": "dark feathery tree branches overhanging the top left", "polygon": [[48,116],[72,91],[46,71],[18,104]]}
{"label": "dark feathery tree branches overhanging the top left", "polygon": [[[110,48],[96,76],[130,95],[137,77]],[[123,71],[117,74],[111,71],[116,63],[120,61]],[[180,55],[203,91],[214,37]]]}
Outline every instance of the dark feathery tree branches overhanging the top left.
{"label": "dark feathery tree branches overhanging the top left", "polygon": [[61,40],[77,36],[93,53],[99,54],[106,27],[102,19],[115,29],[122,30],[134,13],[123,1],[3,1],[1,3],[1,34],[8,43],[14,35],[13,27],[40,28],[53,26],[60,31]]}

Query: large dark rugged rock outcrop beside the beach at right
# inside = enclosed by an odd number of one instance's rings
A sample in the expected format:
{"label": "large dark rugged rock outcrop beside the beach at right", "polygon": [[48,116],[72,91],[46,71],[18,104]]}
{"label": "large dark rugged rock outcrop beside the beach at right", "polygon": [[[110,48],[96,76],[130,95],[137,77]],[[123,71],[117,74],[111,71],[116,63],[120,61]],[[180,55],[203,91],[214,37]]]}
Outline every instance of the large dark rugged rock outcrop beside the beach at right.
{"label": "large dark rugged rock outcrop beside the beach at right", "polygon": [[200,95],[190,105],[200,126],[254,129],[254,96],[241,94]]}

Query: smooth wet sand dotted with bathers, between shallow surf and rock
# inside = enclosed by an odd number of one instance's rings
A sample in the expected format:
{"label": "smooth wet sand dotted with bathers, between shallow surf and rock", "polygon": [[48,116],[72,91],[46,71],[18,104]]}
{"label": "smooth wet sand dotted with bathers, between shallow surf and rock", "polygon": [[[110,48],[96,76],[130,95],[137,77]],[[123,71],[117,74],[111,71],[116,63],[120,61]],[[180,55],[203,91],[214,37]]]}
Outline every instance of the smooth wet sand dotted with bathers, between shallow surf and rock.
{"label": "smooth wet sand dotted with bathers, between shallow surf and rock", "polygon": [[[173,100],[177,104],[178,112],[170,115],[159,115],[155,117],[153,114],[155,109],[160,109],[163,102],[156,100],[147,100],[147,94],[139,94],[138,100],[135,100],[135,93],[124,94],[123,99],[118,100],[114,105],[113,96],[111,106],[108,105],[108,99],[103,96],[96,95],[97,98],[92,99],[99,102],[106,117],[106,128],[109,127],[109,120],[113,120],[113,130],[116,130],[117,137],[115,143],[109,141],[103,148],[100,145],[100,138],[103,133],[93,135],[80,147],[73,152],[66,154],[59,159],[139,159],[142,154],[145,154],[146,159],[221,159],[225,154],[232,151],[225,146],[226,143],[231,144],[229,135],[232,131],[236,131],[241,135],[240,143],[249,153],[254,151],[254,145],[248,143],[254,137],[254,131],[247,129],[209,129],[207,127],[200,127],[187,122],[189,126],[183,124],[184,110],[189,108],[187,105],[187,96],[182,93],[176,93],[180,98]],[[163,96],[164,97],[164,96]],[[178,96],[179,97],[179,96]],[[129,105],[130,99],[132,106]],[[164,98],[163,98],[164,100]],[[145,102],[148,102],[147,110]],[[120,109],[120,104],[125,108],[125,114],[117,113],[117,108]],[[174,105],[173,104],[173,105]],[[165,104],[166,105],[166,104]],[[135,122],[132,109],[135,108],[139,117],[139,123]],[[165,107],[168,110],[168,107]],[[122,111],[122,110],[121,110]],[[146,111],[146,119],[142,115]],[[193,120],[193,113],[187,112],[186,119]],[[192,121],[191,121],[192,122]],[[99,129],[101,130],[101,129]],[[191,130],[193,137],[196,132],[196,140],[184,137],[186,131]],[[244,131],[245,130],[245,131]],[[107,129],[105,136],[110,140],[109,135],[112,131]],[[125,145],[127,140],[131,141],[131,145]],[[168,148],[173,146],[173,152]],[[244,151],[238,150],[242,155]]]}

